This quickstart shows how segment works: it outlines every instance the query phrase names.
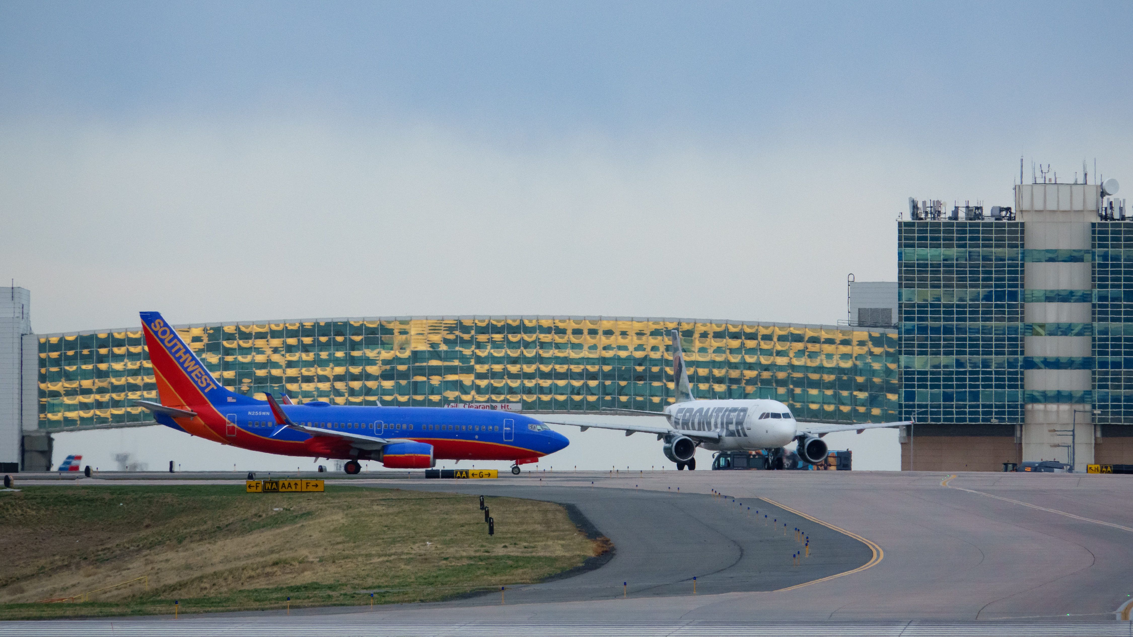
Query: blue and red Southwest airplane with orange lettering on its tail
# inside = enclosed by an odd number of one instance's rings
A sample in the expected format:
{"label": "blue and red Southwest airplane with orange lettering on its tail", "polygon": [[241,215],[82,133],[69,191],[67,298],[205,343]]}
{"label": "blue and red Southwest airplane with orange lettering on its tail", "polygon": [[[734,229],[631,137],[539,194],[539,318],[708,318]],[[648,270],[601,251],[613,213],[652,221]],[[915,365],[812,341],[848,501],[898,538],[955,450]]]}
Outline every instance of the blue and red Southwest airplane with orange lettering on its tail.
{"label": "blue and red Southwest airplane with orange lettering on its tail", "polygon": [[389,468],[427,468],[435,460],[537,462],[570,444],[542,422],[511,412],[445,408],[337,406],[320,401],[280,405],[229,391],[161,315],[142,312],[161,403],[137,401],[165,427],[222,445],[284,456],[360,459]]}

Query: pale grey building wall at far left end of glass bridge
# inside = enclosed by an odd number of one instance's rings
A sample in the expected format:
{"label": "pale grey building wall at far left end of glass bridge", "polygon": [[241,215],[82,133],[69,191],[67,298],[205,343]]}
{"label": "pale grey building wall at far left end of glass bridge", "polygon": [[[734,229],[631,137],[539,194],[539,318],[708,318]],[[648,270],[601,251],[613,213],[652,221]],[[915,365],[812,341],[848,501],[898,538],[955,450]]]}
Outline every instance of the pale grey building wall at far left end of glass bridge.
{"label": "pale grey building wall at far left end of glass bridge", "polygon": [[32,332],[31,311],[31,292],[23,287],[0,287],[0,463],[20,462],[23,336]]}

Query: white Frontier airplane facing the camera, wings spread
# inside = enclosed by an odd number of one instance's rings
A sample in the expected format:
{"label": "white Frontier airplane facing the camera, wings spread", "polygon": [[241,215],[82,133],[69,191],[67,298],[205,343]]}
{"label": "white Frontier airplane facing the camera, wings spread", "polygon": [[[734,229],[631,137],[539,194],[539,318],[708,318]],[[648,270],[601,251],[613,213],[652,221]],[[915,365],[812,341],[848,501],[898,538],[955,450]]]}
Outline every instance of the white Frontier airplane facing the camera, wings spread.
{"label": "white Frontier airplane facing the camera, wings spread", "polygon": [[697,401],[692,397],[692,387],[684,369],[684,354],[681,352],[681,339],[674,329],[673,335],[673,384],[676,387],[676,402],[667,405],[663,413],[638,410],[613,410],[648,415],[664,415],[670,427],[649,427],[637,424],[595,424],[576,420],[547,420],[551,424],[566,424],[581,428],[616,429],[632,436],[637,432],[655,433],[657,440],[664,440],[664,454],[676,463],[678,471],[688,467],[697,468],[697,447],[713,451],[756,450],[764,449],[768,458],[775,458],[774,466],[783,468],[783,447],[792,440],[799,442],[796,454],[809,464],[817,464],[826,458],[827,447],[823,436],[834,431],[857,430],[880,427],[902,427],[903,422],[881,423],[799,423],[791,410],[778,401],[768,399],[726,399]]}

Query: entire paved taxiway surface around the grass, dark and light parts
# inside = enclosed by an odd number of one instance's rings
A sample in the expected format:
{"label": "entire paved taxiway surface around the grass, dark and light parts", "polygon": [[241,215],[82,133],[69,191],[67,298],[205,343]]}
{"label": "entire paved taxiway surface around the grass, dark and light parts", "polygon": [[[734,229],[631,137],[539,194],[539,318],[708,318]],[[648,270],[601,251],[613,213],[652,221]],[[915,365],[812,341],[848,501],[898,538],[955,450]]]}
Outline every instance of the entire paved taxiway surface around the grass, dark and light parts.
{"label": "entire paved taxiway surface around the grass, dark and light parts", "polygon": [[[475,483],[355,480],[351,483],[359,485],[572,502],[611,537],[617,553],[606,566],[577,578],[511,592],[506,605],[488,596],[374,611],[315,609],[291,618],[254,613],[193,621],[202,622],[201,634],[223,626],[248,635],[259,629],[295,632],[289,626],[375,635],[397,626],[416,627],[402,632],[431,634],[491,626],[501,635],[534,626],[544,634],[546,627],[569,626],[622,627],[607,631],[640,634],[653,634],[649,627],[684,634],[697,632],[696,627],[733,634],[759,634],[764,628],[791,634],[792,627],[893,635],[944,629],[910,620],[961,622],[968,634],[1017,634],[1025,627],[1033,635],[1133,635],[1133,622],[1115,618],[1115,611],[1133,600],[1133,476],[966,473],[942,485],[946,477],[670,471],[536,474]],[[859,534],[876,543],[884,559],[852,575],[782,589],[854,568],[871,552],[857,540],[794,518],[790,527],[809,526],[815,557],[791,567],[790,539],[760,527],[746,509],[740,514],[731,498],[712,498],[714,489],[744,501],[744,507],[758,501],[763,510],[757,498],[766,498]],[[503,524],[505,511],[500,513]],[[698,577],[696,596],[692,576]],[[625,600],[622,580],[631,584]],[[161,621],[127,620],[118,630]],[[0,635],[31,635],[31,628],[49,626],[0,625]],[[75,623],[67,627],[79,629]],[[105,622],[90,621],[80,629],[93,635],[104,628]]]}

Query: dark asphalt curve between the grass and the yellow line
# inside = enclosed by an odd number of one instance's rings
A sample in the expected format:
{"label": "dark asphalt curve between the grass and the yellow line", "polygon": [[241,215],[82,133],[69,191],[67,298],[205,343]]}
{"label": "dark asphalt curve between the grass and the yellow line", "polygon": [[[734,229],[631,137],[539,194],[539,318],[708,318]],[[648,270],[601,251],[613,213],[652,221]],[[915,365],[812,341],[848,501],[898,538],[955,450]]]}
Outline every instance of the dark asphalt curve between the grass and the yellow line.
{"label": "dark asphalt curve between the grass and the yellow line", "polygon": [[[852,570],[872,559],[864,543],[766,501],[714,498],[667,489],[496,484],[432,484],[400,488],[511,496],[572,505],[616,550],[597,570],[509,591],[512,603],[621,600],[697,594],[775,591]],[[638,482],[640,484],[641,481]],[[508,523],[506,505],[487,503],[497,525]],[[757,517],[758,516],[758,517]],[[764,516],[767,516],[764,518]],[[809,558],[792,559],[803,545],[794,530],[807,533]],[[453,605],[499,602],[472,597]]]}

